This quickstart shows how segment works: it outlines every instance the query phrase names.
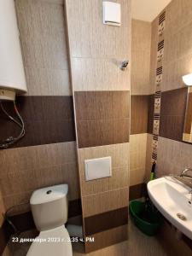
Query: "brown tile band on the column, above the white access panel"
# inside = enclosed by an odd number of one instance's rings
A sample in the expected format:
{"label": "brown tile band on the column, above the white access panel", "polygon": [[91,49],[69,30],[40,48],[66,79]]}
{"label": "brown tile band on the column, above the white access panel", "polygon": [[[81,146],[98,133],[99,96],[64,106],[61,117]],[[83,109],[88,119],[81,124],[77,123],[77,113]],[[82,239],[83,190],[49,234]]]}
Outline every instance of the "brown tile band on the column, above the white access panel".
{"label": "brown tile band on the column, above the white access panel", "polygon": [[79,148],[129,142],[129,91],[75,92]]}

